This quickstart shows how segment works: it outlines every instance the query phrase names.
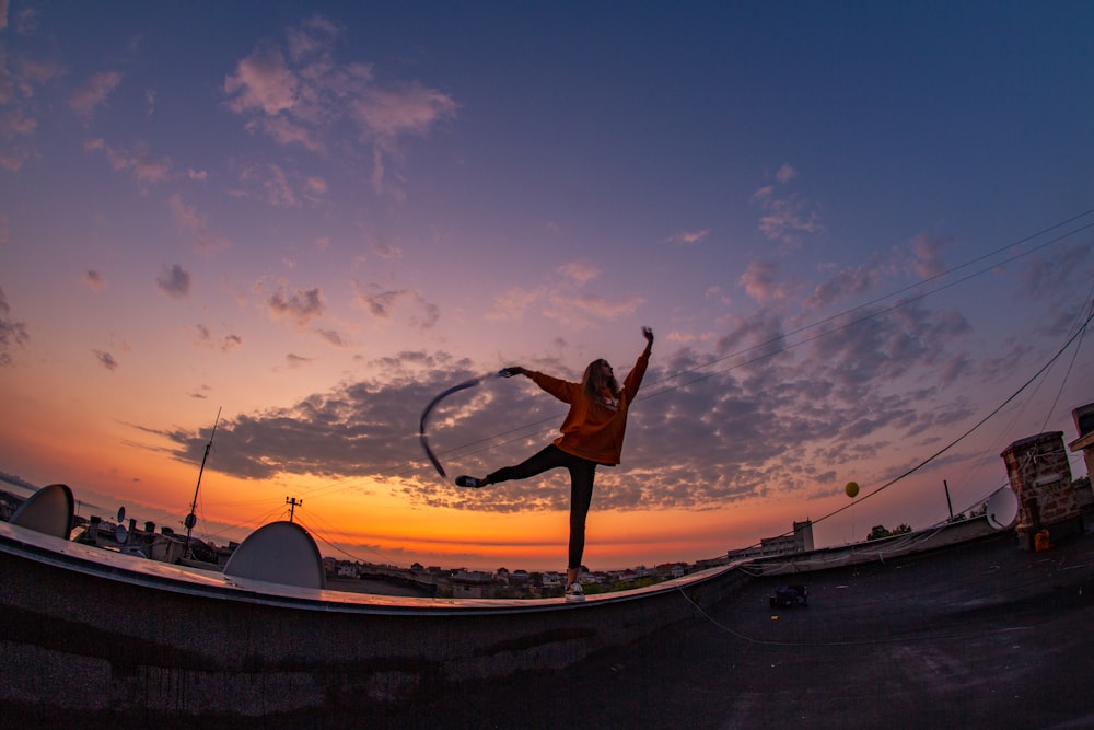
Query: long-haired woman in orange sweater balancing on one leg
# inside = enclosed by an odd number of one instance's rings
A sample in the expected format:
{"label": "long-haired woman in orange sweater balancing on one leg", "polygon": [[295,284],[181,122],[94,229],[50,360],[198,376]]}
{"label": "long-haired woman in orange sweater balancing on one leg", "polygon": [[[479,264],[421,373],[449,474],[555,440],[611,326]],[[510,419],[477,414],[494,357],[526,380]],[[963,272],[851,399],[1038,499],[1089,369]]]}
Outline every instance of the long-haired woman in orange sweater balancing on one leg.
{"label": "long-haired woman in orange sweater balancing on one leg", "polygon": [[645,349],[624,379],[622,386],[607,360],[593,360],[585,368],[580,383],[571,383],[516,366],[505,373],[526,375],[536,385],[570,405],[562,421],[562,436],[527,461],[505,466],[477,479],[472,476],[456,478],[462,487],[479,488],[488,484],[526,479],[552,468],[565,467],[570,472],[570,549],[566,570],[566,600],[585,599],[578,582],[581,556],[585,551],[585,517],[593,499],[593,478],[596,465],[615,466],[622,452],[622,437],[627,429],[627,410],[630,408],[642,376],[650,364],[653,349],[653,331],[642,327]]}

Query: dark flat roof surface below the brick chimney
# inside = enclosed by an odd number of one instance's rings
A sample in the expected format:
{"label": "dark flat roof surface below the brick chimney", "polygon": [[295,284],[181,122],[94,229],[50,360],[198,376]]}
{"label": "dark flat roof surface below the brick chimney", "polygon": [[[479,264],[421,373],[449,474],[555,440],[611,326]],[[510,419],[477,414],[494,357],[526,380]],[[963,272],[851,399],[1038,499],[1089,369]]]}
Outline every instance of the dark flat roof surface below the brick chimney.
{"label": "dark flat roof surface below the brick chimney", "polygon": [[[806,586],[807,606],[770,607],[769,595],[788,583]],[[896,560],[756,578],[690,621],[577,667],[426,695],[361,720],[1089,728],[1092,624],[1094,536],[1031,553],[1004,532]]]}

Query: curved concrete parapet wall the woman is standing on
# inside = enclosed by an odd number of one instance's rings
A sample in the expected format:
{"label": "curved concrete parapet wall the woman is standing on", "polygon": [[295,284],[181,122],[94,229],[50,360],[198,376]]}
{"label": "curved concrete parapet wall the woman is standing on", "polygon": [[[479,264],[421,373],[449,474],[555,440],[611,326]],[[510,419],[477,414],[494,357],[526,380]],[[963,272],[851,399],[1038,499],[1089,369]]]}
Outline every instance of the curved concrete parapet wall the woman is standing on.
{"label": "curved concrete parapet wall the woman is standing on", "polygon": [[466,681],[572,664],[695,617],[720,568],[561,600],[375,596],[242,581],[0,524],[0,703],[149,718],[350,716]]}

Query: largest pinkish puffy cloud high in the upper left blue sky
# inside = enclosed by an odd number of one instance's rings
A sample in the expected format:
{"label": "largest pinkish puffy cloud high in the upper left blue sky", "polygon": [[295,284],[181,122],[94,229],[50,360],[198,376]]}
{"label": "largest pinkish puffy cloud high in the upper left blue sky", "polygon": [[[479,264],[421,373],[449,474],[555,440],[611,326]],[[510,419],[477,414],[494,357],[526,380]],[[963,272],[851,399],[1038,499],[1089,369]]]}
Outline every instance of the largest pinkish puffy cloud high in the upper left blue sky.
{"label": "largest pinkish puffy cloud high in the upper left blue sky", "polygon": [[386,162],[400,157],[400,140],[428,134],[453,117],[457,105],[419,81],[382,84],[371,65],[339,62],[335,46],[340,34],[317,15],[287,32],[288,55],[267,44],[241,59],[224,79],[228,107],[247,117],[248,130],[313,152],[325,152],[324,140],[350,126],[370,150],[374,187],[384,192]]}

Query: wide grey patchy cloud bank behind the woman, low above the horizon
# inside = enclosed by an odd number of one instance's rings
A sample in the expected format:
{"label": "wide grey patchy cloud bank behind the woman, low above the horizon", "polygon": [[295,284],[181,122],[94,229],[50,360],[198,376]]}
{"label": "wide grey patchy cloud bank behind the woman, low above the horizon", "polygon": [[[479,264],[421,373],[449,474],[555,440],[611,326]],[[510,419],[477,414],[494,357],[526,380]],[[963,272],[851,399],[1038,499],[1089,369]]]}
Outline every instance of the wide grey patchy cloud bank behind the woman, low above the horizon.
{"label": "wide grey patchy cloud bank behind the woman, low above the horizon", "polygon": [[[779,332],[773,315],[742,325],[755,339]],[[861,344],[859,337],[843,340],[834,348],[853,350]],[[637,349],[615,359],[630,360]],[[557,363],[528,367],[567,375]],[[383,380],[342,383],[290,407],[225,422],[218,468],[253,479],[279,474],[375,478],[411,503],[454,509],[567,508],[563,472],[497,485],[470,501],[466,493],[439,485],[418,444],[421,407],[453,382],[479,372],[443,352],[420,351],[386,359],[383,371]],[[597,509],[709,509],[772,489],[800,498],[836,480],[834,465],[883,449],[892,433],[921,433],[943,419],[959,419],[966,409],[952,404],[931,413],[920,407],[931,391],[893,394],[886,381],[864,383],[851,401],[831,374],[823,362],[793,351],[750,368],[686,349],[662,356],[632,407],[624,465],[597,474]],[[563,415],[565,405],[533,384],[494,380],[443,402],[428,433],[450,470],[485,473],[548,443]],[[848,445],[852,434],[853,450]],[[181,459],[200,457],[200,432],[167,436]],[[788,443],[794,448],[787,449]]]}

